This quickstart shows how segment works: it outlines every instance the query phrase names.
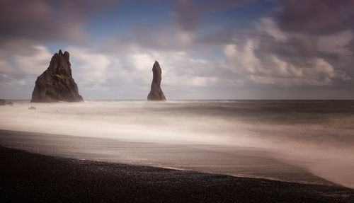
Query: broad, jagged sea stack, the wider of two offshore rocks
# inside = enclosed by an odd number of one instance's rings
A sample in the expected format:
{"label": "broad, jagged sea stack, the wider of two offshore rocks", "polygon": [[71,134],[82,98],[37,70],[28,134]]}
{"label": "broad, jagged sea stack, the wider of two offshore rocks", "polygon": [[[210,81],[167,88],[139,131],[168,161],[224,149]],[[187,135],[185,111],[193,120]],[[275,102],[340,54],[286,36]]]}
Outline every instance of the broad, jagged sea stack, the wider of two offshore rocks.
{"label": "broad, jagged sea stack, the wider of two offshore rocks", "polygon": [[72,78],[69,52],[54,54],[50,65],[35,81],[31,102],[80,102],[83,101]]}

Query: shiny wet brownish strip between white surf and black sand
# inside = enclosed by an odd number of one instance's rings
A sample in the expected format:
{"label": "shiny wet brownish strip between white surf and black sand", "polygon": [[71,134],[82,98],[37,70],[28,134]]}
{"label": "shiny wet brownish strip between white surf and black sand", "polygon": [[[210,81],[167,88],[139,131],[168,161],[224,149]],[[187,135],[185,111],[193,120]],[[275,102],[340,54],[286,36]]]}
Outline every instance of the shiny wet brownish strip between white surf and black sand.
{"label": "shiny wet brownish strip between white surf and black sand", "polygon": [[333,185],[304,168],[250,147],[123,141],[0,130],[0,146],[62,158],[195,170],[246,178]]}

